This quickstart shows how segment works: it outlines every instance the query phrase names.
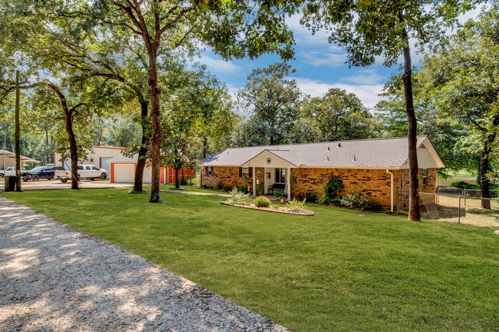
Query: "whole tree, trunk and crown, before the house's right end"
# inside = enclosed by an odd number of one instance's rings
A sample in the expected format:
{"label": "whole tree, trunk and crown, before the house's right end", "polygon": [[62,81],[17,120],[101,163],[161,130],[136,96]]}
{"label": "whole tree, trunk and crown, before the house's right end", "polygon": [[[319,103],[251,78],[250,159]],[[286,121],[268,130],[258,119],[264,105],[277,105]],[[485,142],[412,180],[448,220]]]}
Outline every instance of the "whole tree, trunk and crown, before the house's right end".
{"label": "whole tree, trunk and crown, before the house's right end", "polygon": [[409,219],[420,220],[418,196],[417,119],[412,91],[412,59],[409,41],[423,47],[439,40],[444,29],[469,9],[467,0],[305,0],[301,22],[312,32],[332,30],[330,42],[347,51],[347,63],[368,66],[382,56],[385,66],[403,58],[405,111],[409,140]]}

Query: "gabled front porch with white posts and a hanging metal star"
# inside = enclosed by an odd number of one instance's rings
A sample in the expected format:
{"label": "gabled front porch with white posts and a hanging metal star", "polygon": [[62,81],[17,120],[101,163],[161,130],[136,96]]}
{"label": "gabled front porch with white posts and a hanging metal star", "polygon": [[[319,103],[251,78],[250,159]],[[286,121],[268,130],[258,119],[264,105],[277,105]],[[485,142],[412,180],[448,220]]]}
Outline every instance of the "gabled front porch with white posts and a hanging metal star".
{"label": "gabled front porch with white posts and a hanging metal star", "polygon": [[[253,196],[256,196],[256,186],[263,186],[263,193],[270,199],[276,200],[273,196],[275,191],[282,191],[286,199],[291,199],[291,168],[296,167],[293,163],[294,152],[286,150],[265,150],[242,165],[243,172],[251,168]],[[295,156],[294,156],[295,157]],[[292,160],[293,162],[289,161]],[[263,183],[259,183],[257,178],[261,178],[263,169]]]}

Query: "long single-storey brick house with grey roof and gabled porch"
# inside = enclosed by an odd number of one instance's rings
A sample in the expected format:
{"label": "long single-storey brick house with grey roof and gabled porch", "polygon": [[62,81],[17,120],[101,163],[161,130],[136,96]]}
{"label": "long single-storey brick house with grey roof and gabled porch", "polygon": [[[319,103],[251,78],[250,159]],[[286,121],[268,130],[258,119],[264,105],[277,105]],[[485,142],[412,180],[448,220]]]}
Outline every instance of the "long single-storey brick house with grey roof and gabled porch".
{"label": "long single-storey brick house with grey roof and gabled porch", "polygon": [[[434,193],[437,168],[445,167],[427,136],[418,137],[419,191]],[[324,193],[331,177],[382,205],[405,211],[409,188],[408,140],[403,138],[337,141],[225,149],[201,162],[201,185],[242,187],[264,193],[274,183],[285,186],[288,198],[312,191]]]}

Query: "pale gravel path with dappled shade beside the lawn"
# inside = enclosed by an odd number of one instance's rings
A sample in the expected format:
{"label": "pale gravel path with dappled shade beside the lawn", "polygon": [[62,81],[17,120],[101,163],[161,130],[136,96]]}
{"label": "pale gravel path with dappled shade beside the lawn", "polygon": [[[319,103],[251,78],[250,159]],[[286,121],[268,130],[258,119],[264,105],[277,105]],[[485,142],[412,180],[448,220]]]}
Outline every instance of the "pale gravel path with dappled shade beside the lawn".
{"label": "pale gravel path with dappled shade beside the lawn", "polygon": [[127,250],[0,197],[0,331],[286,331]]}

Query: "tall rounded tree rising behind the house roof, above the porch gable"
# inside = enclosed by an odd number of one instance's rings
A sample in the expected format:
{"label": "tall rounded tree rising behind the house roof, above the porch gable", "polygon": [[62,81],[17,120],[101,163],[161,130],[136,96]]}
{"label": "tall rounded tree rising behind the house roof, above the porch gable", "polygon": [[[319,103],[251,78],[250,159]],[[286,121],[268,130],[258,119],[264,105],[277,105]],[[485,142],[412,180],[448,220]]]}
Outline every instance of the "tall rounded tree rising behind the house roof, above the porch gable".
{"label": "tall rounded tree rising behind the house roof, above the porch gable", "polygon": [[243,107],[250,109],[255,121],[264,127],[268,144],[285,142],[298,117],[301,92],[289,75],[295,70],[287,63],[274,63],[253,69],[246,86],[238,92]]}

